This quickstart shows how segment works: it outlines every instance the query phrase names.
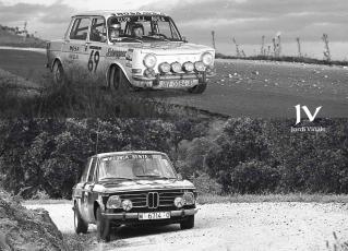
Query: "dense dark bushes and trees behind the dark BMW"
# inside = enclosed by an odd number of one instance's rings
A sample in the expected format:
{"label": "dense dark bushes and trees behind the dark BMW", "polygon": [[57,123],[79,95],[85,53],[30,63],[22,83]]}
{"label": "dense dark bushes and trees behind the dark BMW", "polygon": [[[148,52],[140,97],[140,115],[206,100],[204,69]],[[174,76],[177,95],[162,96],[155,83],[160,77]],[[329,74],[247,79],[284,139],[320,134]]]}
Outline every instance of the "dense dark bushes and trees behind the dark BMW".
{"label": "dense dark bushes and trees behind the dark BMW", "polygon": [[70,199],[88,156],[157,150],[201,194],[347,193],[347,119],[311,125],[326,132],[291,133],[292,120],[250,118],[3,119],[0,174],[25,199]]}

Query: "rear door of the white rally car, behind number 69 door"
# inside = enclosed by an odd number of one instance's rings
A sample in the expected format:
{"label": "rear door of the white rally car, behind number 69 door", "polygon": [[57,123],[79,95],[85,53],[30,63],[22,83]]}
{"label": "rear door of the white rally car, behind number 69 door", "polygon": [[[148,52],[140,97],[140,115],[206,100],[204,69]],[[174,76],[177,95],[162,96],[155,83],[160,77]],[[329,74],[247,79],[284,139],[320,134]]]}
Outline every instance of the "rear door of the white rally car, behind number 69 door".
{"label": "rear door of the white rally car, behind number 69 door", "polygon": [[73,20],[70,33],[62,46],[63,64],[68,74],[85,71],[88,63],[88,36],[91,19],[80,16]]}

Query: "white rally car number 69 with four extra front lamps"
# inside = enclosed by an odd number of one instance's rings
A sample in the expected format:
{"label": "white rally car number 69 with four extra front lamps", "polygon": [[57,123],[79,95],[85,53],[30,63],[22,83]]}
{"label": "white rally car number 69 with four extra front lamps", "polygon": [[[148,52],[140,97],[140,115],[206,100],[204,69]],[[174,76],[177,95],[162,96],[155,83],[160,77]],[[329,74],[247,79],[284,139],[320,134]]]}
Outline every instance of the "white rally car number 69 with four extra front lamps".
{"label": "white rally car number 69 with four extra front lamps", "polygon": [[215,74],[215,50],[190,44],[159,12],[98,11],[72,16],[64,38],[47,45],[56,83],[71,69],[105,77],[108,87],[184,88],[203,93]]}

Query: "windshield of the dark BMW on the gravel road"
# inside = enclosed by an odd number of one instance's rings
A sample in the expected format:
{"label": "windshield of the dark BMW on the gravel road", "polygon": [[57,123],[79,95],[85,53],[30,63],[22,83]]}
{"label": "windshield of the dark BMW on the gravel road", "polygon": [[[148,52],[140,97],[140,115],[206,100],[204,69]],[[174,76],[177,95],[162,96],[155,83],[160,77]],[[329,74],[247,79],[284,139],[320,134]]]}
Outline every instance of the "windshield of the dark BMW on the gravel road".
{"label": "windshield of the dark BMW on the gravel road", "polygon": [[177,175],[165,155],[129,154],[101,158],[99,180],[105,179],[175,179]]}

